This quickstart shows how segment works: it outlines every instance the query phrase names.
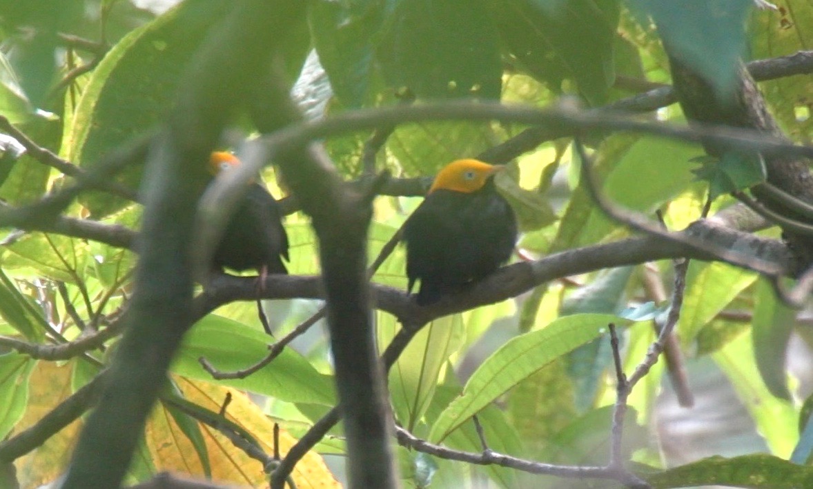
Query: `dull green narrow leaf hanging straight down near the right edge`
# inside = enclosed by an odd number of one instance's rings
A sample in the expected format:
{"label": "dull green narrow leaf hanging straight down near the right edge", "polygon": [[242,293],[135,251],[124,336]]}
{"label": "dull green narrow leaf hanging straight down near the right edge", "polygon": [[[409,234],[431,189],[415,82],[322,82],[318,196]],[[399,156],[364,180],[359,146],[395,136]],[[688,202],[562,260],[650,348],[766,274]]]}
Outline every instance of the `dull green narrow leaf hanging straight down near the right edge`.
{"label": "dull green narrow leaf hanging straight down near the right edge", "polygon": [[796,323],[796,311],[776,299],[776,293],[766,280],[757,283],[755,295],[751,325],[759,374],[774,396],[791,400],[785,356]]}

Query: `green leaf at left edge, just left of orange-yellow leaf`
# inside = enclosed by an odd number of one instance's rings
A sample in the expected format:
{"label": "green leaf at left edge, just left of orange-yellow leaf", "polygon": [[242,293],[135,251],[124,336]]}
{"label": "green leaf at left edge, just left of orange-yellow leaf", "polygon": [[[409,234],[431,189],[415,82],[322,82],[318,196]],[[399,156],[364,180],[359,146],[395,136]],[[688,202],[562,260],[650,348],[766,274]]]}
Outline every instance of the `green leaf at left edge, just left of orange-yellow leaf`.
{"label": "green leaf at left edge, just left of orange-yellow leaf", "polygon": [[0,355],[0,439],[23,418],[28,403],[28,377],[37,364],[28,355]]}

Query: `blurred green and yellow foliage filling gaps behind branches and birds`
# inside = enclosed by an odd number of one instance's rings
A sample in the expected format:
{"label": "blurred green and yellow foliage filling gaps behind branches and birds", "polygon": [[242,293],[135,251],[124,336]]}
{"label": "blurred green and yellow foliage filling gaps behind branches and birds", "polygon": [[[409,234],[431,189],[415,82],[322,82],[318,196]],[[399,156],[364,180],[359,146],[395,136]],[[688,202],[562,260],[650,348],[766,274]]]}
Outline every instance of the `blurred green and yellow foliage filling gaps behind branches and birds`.
{"label": "blurred green and yellow foliage filling gaps behind branches and birds", "polygon": [[[0,0],[0,115],[37,145],[90,167],[161,123],[174,93],[182,89],[178,79],[185,62],[207,28],[233,4]],[[703,9],[711,4],[722,14],[706,15]],[[783,0],[776,6],[758,10],[744,0],[313,0],[307,22],[290,26],[285,63],[292,97],[309,119],[413,98],[414,103],[473,98],[548,106],[572,97],[585,107],[605,106],[669,83],[663,42],[724,93],[732,89],[740,57],[793,54],[813,43],[811,1]],[[794,141],[809,142],[813,76],[771,80],[761,88],[785,132]],[[643,117],[683,121],[677,106]],[[450,160],[474,157],[522,130],[501,123],[401,125],[377,155],[376,168],[388,168],[397,177],[431,177]],[[238,118],[220,144],[232,148],[254,135],[254,128]],[[360,156],[368,136],[349,133],[324,141],[347,179],[363,174]],[[20,154],[16,141],[3,137],[2,201],[22,204],[65,184],[67,177]],[[698,219],[708,189],[692,172],[700,147],[637,134],[593,142],[603,191],[614,201],[644,213],[659,210],[674,229]],[[523,218],[522,253],[516,260],[629,235],[579,186],[570,143],[550,141],[520,155],[511,162],[510,181],[500,183]],[[128,168],[117,178],[136,189],[141,173]],[[284,197],[285,185],[271,168],[263,180],[276,197]],[[419,201],[378,197],[369,235],[371,260]],[[729,204],[720,197],[712,212]],[[90,192],[66,214],[137,228],[141,208]],[[289,215],[285,227],[290,273],[318,274],[307,219]],[[76,318],[108,327],[126,305],[133,253],[52,233],[4,230],[3,235],[0,334],[58,344],[82,334],[87,325]],[[373,280],[405,288],[404,261],[399,248]],[[611,321],[623,325],[624,365],[631,371],[669,306],[653,292],[652,277],[668,292],[672,263],[567,277],[511,301],[434,321],[389,374],[398,422],[421,438],[479,452],[471,421],[476,414],[490,448],[498,452],[553,463],[604,463],[608,406],[615,400],[604,327]],[[267,301],[263,308],[279,338],[320,304]],[[385,348],[399,325],[385,313],[376,320]],[[742,467],[766,467],[749,487],[780,487],[789,473],[796,474],[753,455],[760,452],[783,459],[793,454],[800,464],[795,467],[805,470],[813,433],[803,430],[806,417],[800,419],[799,412],[811,393],[811,320],[807,311],[778,303],[772,289],[750,272],[693,262],[677,334],[695,405],[677,405],[663,363],[656,365],[630,397],[625,453],[654,468],[715,455],[748,456],[724,461],[728,465],[715,465],[718,459],[686,465],[673,476],[664,473],[658,487],[712,479],[736,483]],[[321,326],[257,374],[215,382],[198,357],[221,370],[237,370],[263,357],[273,341],[263,333],[253,304],[223,306],[189,333],[173,367],[172,391],[215,411],[230,392],[233,421],[266,446],[273,422],[279,422],[285,452],[335,402]],[[31,426],[92,379],[110,348],[115,340],[61,362],[0,349],[0,438]],[[79,423],[16,461],[23,487],[58,477]],[[341,431],[334,430],[298,465],[298,487],[337,484],[343,451]],[[404,449],[398,457],[405,487],[564,487],[553,478]],[[145,480],[158,470],[263,484],[256,461],[164,403],[150,419],[129,480]],[[567,484],[604,487],[595,481]]]}

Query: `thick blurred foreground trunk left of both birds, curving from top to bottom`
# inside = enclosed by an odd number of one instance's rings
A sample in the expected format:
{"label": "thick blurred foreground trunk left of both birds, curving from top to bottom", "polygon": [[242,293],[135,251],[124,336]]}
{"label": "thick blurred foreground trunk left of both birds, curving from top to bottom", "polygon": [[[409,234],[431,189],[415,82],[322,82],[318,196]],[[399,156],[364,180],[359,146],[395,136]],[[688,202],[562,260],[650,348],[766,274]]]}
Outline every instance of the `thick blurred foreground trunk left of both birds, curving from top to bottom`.
{"label": "thick blurred foreground trunk left of both birds, curving from top to bottom", "polygon": [[208,180],[202,163],[233,108],[248,102],[250,81],[270,67],[269,53],[283,41],[285,26],[302,14],[303,6],[281,0],[235,4],[180,80],[167,128],[148,158],[141,257],[128,327],[63,487],[115,487],[124,477],[172,354],[192,325],[188,247],[195,203]]}

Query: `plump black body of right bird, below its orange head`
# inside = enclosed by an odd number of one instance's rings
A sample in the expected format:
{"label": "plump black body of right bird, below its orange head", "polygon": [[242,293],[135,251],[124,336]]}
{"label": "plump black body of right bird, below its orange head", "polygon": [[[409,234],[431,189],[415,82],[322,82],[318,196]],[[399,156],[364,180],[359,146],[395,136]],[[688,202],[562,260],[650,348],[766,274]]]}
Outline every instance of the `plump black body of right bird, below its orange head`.
{"label": "plump black body of right bird, below its orange head", "polygon": [[511,257],[517,236],[511,206],[493,178],[472,193],[439,188],[404,226],[409,291],[420,279],[419,305],[493,273]]}

